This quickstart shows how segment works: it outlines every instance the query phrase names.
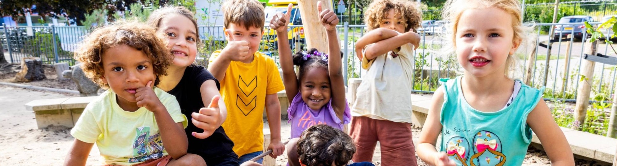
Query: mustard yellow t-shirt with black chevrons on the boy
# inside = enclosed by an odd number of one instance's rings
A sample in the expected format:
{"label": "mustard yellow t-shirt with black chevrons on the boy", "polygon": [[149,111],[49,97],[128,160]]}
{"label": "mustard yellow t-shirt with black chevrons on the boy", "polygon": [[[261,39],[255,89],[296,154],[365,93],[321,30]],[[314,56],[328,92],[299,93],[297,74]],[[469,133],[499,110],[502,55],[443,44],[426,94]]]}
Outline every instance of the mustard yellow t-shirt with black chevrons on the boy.
{"label": "mustard yellow t-shirt with black chevrons on the boy", "polygon": [[[210,64],[221,50],[212,53]],[[263,108],[266,95],[284,90],[283,80],[274,59],[255,52],[251,63],[231,61],[220,80],[227,106],[225,133],[234,143],[233,151],[242,156],[263,151]]]}

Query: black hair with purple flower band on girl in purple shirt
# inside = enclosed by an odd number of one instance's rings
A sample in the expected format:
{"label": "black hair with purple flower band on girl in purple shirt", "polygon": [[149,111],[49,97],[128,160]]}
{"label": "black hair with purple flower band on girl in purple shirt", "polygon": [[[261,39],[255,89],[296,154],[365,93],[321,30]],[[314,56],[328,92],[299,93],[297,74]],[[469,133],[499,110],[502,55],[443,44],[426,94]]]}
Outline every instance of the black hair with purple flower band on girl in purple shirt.
{"label": "black hair with purple flower band on girl in purple shirt", "polygon": [[[341,52],[342,57],[343,53]],[[328,71],[328,55],[324,52],[319,52],[315,48],[296,52],[292,58],[294,65],[300,68],[298,71],[298,81],[304,77],[304,73],[310,68],[324,68]]]}

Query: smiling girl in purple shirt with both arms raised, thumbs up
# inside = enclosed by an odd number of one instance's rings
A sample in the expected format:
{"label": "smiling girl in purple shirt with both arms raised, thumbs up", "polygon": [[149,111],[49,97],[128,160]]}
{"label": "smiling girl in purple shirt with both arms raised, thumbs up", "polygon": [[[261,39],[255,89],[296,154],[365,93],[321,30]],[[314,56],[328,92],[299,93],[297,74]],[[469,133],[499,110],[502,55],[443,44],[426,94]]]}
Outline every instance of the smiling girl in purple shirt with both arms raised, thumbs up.
{"label": "smiling girl in purple shirt with both arms raised, thumbs up", "polygon": [[[287,25],[291,13],[276,14],[270,28],[276,31],[278,41],[288,41]],[[317,49],[297,52],[291,55],[288,42],[278,42],[283,83],[291,105],[288,109],[291,122],[291,140],[287,144],[288,164],[300,165],[297,154],[297,141],[300,134],[312,125],[326,124],[343,129],[350,121],[349,105],[345,99],[345,83],[341,71],[341,47],[337,41],[336,25],[339,19],[333,10],[321,10],[317,3],[321,24],[328,36],[328,53]],[[298,77],[294,65],[299,66]]]}

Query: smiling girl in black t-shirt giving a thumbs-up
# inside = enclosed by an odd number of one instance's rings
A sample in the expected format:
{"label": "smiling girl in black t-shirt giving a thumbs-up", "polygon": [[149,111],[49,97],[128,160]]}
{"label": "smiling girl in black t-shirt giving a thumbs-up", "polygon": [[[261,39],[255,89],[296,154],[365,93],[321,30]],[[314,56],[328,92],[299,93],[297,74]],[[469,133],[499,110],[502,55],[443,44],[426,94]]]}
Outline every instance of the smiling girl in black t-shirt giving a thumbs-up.
{"label": "smiling girl in black t-shirt giving a thumbs-up", "polygon": [[182,113],[191,119],[184,129],[187,152],[201,156],[207,165],[239,165],[233,142],[221,127],[227,109],[219,100],[220,84],[203,66],[193,65],[201,45],[193,13],[182,6],[163,7],[152,12],[148,24],[165,35],[174,55],[167,76],[160,77],[157,87],[174,95]]}

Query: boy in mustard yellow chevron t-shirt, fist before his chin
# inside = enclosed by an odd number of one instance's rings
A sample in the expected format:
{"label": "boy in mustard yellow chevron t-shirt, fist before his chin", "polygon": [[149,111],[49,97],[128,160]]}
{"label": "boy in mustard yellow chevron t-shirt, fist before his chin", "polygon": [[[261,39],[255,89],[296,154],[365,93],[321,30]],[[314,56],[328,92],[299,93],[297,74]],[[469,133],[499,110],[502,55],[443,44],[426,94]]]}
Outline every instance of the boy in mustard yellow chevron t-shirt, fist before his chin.
{"label": "boy in mustard yellow chevron t-shirt, fist before his chin", "polygon": [[273,150],[271,157],[279,156],[285,146],[276,93],[285,88],[273,58],[257,52],[265,24],[263,6],[257,0],[228,0],[222,10],[229,41],[225,49],[212,53],[208,68],[221,82],[220,93],[228,109],[222,126],[242,164],[263,151],[265,107],[271,130],[268,149]]}

